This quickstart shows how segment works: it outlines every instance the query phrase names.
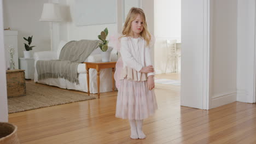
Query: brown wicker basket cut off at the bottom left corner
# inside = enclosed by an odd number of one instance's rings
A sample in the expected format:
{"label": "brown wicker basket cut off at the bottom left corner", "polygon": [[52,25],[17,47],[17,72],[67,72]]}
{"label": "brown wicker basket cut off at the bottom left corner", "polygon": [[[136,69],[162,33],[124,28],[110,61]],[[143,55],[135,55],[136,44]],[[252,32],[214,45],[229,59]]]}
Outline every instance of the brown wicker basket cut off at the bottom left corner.
{"label": "brown wicker basket cut off at the bottom left corner", "polygon": [[0,122],[0,144],[19,144],[17,127],[10,123]]}

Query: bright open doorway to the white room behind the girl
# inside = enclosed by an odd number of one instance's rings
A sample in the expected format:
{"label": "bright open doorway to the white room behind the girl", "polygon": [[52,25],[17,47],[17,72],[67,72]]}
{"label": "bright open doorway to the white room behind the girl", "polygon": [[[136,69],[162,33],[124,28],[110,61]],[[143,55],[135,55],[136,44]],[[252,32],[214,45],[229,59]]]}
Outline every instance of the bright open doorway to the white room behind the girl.
{"label": "bright open doorway to the white room behind the girl", "polygon": [[181,0],[154,1],[156,87],[181,87]]}

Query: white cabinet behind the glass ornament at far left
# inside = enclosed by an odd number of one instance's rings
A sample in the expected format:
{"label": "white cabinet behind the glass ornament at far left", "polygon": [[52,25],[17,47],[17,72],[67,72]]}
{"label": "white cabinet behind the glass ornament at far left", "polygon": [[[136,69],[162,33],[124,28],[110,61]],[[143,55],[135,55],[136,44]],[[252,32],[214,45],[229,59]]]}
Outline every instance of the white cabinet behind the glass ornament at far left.
{"label": "white cabinet behind the glass ornament at far left", "polygon": [[18,31],[4,31],[4,51],[5,51],[5,63],[7,67],[10,67],[10,53],[9,46],[14,48],[13,61],[15,63],[15,69],[19,69],[18,59]]}

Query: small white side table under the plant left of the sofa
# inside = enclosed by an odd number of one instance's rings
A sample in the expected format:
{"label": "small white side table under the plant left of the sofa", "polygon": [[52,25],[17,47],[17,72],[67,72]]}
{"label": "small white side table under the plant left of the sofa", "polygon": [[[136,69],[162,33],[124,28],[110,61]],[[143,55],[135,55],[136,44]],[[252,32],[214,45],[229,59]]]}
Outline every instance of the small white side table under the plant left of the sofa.
{"label": "small white side table under the plant left of the sofa", "polygon": [[19,58],[20,69],[25,70],[25,79],[34,79],[34,58]]}

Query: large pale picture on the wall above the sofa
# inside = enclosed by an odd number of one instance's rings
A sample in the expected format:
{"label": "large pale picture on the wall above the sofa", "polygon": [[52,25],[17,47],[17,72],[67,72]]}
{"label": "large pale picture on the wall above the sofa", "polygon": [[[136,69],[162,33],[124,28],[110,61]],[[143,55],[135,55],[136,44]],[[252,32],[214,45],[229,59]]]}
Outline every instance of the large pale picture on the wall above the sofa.
{"label": "large pale picture on the wall above the sofa", "polygon": [[74,20],[77,26],[117,22],[117,0],[75,0]]}

